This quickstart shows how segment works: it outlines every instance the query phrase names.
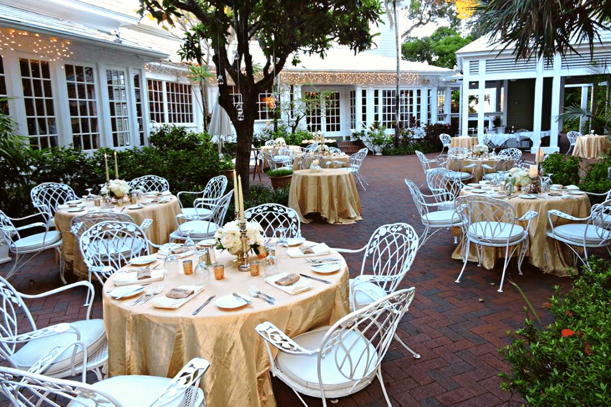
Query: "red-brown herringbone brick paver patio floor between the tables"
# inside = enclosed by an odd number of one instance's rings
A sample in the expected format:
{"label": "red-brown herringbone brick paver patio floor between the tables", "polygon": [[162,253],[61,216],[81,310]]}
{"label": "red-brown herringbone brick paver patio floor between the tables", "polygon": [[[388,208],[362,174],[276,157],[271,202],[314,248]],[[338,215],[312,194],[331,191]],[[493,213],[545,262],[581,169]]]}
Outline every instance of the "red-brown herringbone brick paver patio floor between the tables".
{"label": "red-brown herringbone brick paver patio floor between the tables", "polygon": [[[431,154],[434,156],[434,154]],[[361,222],[354,225],[328,225],[322,221],[302,225],[309,240],[324,241],[332,247],[360,248],[371,232],[384,223],[407,222],[422,232],[419,217],[403,182],[409,178],[420,184],[422,168],[415,156],[368,156],[362,174],[369,182],[367,190],[359,186],[362,202]],[[461,284],[454,283],[461,261],[452,260],[454,250],[450,232],[439,232],[417,254],[401,287],[416,287],[409,313],[399,326],[398,334],[422,355],[414,359],[396,341],[382,363],[384,379],[393,406],[517,406],[517,395],[511,397],[499,388],[498,373],[508,370],[497,349],[509,341],[508,330],[524,320],[524,300],[511,284],[499,294],[496,290],[502,265],[485,270],[469,263]],[[12,278],[21,292],[34,294],[61,286],[58,269],[51,252],[38,256],[31,265]],[[360,270],[360,254],[347,255],[351,276]],[[0,266],[5,275],[11,264]],[[540,315],[549,321],[541,308],[553,294],[553,286],[563,289],[569,278],[545,275],[525,262],[523,276],[516,262],[510,263],[510,278],[524,290]],[[93,317],[101,318],[100,286],[93,307]],[[46,300],[28,301],[39,327],[84,317],[84,290],[76,289]],[[211,361],[214,363],[214,361]],[[239,379],[238,379],[239,380]],[[300,406],[296,395],[279,380],[273,380],[280,407]],[[219,383],[224,386],[227,383]],[[320,406],[318,399],[305,397],[310,406]],[[6,404],[6,402],[4,402]],[[364,391],[340,398],[337,406],[385,406],[375,380]],[[221,407],[221,406],[214,406]],[[222,406],[224,407],[224,406]],[[240,406],[232,406],[240,407]]]}

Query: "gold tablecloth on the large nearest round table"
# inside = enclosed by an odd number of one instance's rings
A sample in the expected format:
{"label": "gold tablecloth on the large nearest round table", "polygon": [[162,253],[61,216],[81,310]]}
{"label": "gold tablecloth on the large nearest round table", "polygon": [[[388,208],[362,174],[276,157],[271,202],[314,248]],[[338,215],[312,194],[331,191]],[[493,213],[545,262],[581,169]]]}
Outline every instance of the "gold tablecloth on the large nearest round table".
{"label": "gold tablecloth on the large nearest round table", "polygon": [[[288,258],[284,249],[280,252],[280,271],[315,275],[305,259]],[[335,252],[331,255],[341,258]],[[288,295],[265,283],[263,272],[258,277],[238,272],[232,262],[235,256],[227,251],[217,250],[216,256],[218,262],[226,264],[225,279],[217,281],[213,274],[210,286],[177,310],[153,308],[152,301],[130,306],[132,299],[114,300],[106,294],[106,289],[114,286],[113,278],[106,281],[103,306],[109,375],[172,377],[189,359],[199,356],[210,361],[201,383],[207,406],[274,407],[269,358],[255,326],[269,321],[295,337],[337,322],[349,312],[348,267],[342,260],[339,272],[318,275],[331,284],[308,280],[311,290]],[[192,259],[195,264],[196,259]],[[162,283],[160,296],[181,284],[197,284],[197,278],[176,273],[150,287]],[[248,294],[251,284],[276,298],[276,305],[259,298],[252,298],[251,305],[235,311],[222,311],[214,305],[222,295]],[[216,298],[199,314],[191,315],[211,295]]]}

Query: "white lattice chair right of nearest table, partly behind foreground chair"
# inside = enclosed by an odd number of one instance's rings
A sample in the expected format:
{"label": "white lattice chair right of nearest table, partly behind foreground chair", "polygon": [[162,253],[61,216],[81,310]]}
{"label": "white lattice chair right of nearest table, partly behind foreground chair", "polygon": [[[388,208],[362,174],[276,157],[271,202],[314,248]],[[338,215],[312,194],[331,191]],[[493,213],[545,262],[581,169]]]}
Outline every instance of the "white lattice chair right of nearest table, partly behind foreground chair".
{"label": "white lattice chair right of nearest table, partly behind foreground chair", "polygon": [[[376,229],[367,245],[360,249],[334,248],[340,253],[364,251],[360,275],[349,279],[351,311],[395,292],[411,268],[418,247],[418,235],[412,226],[407,223],[392,223]],[[365,270],[370,270],[371,273],[366,274]],[[420,359],[420,355],[404,344],[397,335],[395,339],[414,355],[414,358]]]}

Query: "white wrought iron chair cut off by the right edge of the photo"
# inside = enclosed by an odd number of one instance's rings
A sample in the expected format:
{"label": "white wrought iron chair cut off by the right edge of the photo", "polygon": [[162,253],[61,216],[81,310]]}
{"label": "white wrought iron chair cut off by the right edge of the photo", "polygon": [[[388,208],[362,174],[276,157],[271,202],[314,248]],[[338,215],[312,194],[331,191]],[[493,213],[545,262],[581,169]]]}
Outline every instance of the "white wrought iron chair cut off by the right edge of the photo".
{"label": "white wrought iron chair cut off by the right edge of the photo", "polygon": [[[569,223],[558,225],[560,219],[568,220]],[[565,243],[575,255],[576,265],[577,259],[587,264],[588,248],[604,247],[611,254],[611,250],[609,250],[611,244],[611,200],[593,205],[590,216],[585,218],[577,218],[552,209],[547,211],[547,220],[550,226],[547,229],[547,236]],[[584,250],[583,257],[576,248]]]}

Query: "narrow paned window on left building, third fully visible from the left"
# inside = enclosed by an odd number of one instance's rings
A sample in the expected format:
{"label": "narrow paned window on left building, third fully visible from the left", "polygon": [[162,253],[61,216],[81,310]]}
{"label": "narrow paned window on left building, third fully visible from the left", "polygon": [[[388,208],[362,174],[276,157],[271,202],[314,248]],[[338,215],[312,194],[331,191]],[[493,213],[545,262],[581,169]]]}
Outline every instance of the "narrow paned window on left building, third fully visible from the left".
{"label": "narrow paned window on left building, third fully visible from the left", "polygon": [[114,147],[131,145],[125,76],[125,71],[122,70],[106,70],[108,103],[111,112],[112,146]]}

